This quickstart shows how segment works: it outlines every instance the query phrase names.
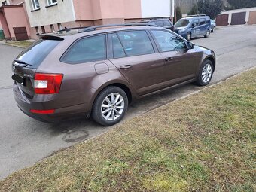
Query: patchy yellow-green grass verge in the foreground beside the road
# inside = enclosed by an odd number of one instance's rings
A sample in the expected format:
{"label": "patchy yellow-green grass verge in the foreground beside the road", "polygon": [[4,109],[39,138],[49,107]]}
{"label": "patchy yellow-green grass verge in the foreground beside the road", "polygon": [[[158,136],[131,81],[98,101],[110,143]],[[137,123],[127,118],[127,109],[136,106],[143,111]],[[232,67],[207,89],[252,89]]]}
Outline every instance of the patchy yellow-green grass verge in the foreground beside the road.
{"label": "patchy yellow-green grass verge in the foreground beside the road", "polygon": [[0,181],[1,191],[256,191],[256,69]]}

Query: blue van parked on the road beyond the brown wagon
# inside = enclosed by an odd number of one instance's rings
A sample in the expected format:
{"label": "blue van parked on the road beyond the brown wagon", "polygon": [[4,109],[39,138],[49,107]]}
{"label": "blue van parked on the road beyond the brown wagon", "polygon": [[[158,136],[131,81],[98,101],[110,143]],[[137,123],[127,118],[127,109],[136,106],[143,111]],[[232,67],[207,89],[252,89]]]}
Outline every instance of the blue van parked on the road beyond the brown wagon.
{"label": "blue van parked on the road beyond the brown wagon", "polygon": [[190,41],[191,38],[204,36],[206,38],[211,34],[211,21],[209,16],[197,15],[187,16],[178,20],[174,25],[174,31]]}

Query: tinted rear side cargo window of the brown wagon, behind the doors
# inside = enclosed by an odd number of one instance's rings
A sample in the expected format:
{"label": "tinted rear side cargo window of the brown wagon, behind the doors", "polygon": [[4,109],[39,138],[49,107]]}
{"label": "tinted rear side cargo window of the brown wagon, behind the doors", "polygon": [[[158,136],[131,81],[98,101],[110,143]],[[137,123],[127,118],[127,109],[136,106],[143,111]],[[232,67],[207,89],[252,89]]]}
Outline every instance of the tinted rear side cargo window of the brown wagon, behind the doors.
{"label": "tinted rear side cargo window of the brown wagon, behind the doors", "polygon": [[76,41],[63,56],[62,61],[78,64],[107,59],[105,36],[97,35]]}

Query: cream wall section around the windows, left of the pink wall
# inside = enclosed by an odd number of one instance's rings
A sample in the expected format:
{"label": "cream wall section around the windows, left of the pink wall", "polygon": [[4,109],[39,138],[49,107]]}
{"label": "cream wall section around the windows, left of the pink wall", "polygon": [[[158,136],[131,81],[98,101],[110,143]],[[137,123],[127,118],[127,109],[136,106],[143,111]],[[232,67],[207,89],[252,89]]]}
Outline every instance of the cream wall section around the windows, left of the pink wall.
{"label": "cream wall section around the windows, left of the pink wall", "polygon": [[[25,0],[29,22],[34,26],[47,26],[55,23],[65,23],[75,20],[72,0],[57,1],[58,4],[45,8],[46,0],[39,0],[40,10],[32,11],[31,0]],[[31,12],[32,11],[32,12]]]}

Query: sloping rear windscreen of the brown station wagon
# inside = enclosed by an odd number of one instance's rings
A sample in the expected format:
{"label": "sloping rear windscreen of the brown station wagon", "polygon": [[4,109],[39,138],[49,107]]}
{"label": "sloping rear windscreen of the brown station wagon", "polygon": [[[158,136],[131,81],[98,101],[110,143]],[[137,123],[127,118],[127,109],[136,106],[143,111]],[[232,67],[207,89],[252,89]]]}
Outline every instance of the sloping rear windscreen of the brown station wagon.
{"label": "sloping rear windscreen of the brown station wagon", "polygon": [[37,69],[50,51],[52,51],[60,42],[61,41],[56,40],[38,39],[30,47],[26,48],[26,50],[23,50],[23,52],[17,56],[17,59],[32,65],[27,67]]}

